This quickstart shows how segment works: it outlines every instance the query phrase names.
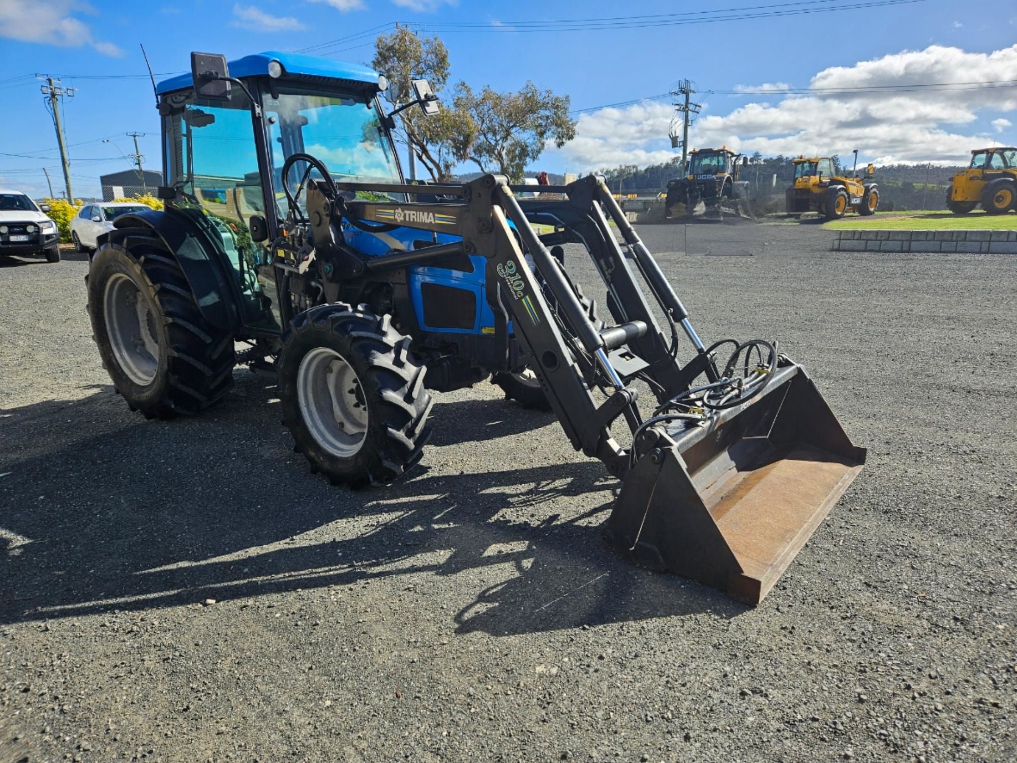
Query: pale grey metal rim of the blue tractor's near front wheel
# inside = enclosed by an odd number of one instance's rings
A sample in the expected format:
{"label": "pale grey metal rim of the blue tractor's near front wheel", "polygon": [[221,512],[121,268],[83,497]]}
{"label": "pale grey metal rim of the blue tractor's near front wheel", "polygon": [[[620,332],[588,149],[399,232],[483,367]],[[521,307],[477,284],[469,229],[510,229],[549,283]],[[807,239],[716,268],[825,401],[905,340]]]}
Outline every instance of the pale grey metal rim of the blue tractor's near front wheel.
{"label": "pale grey metal rim of the blue tractor's near front wheel", "polygon": [[350,458],[367,437],[367,404],[357,372],[338,352],[315,347],[300,361],[297,401],[311,436],[334,456]]}

